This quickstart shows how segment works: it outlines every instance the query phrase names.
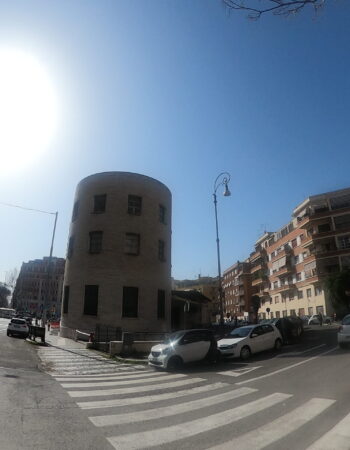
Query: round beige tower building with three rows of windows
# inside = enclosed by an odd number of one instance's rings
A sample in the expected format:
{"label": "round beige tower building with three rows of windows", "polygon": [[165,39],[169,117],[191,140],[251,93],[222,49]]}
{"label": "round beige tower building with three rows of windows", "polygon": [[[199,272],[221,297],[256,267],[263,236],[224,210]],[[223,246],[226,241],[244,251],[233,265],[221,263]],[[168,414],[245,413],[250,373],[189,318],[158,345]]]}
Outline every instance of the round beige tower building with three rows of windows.
{"label": "round beige tower building with three rows of windows", "polygon": [[136,173],[77,186],[69,232],[61,336],[95,325],[169,331],[171,192]]}

